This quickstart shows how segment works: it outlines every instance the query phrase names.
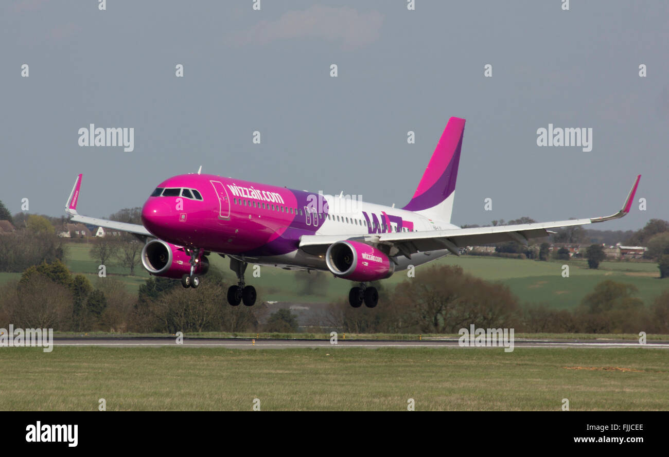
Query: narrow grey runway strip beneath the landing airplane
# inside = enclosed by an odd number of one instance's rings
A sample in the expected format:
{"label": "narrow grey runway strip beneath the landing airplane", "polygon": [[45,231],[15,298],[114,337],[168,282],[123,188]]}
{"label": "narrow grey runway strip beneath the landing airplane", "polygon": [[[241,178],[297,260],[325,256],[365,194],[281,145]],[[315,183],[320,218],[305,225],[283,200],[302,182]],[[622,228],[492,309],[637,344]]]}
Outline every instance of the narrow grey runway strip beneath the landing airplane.
{"label": "narrow grey runway strip beneath the landing airplane", "polygon": [[[473,343],[472,343],[473,344]],[[161,346],[191,346],[191,347],[227,347],[229,349],[289,349],[295,347],[363,347],[376,349],[382,347],[441,347],[446,349],[502,349],[501,345],[490,346],[460,346],[458,339],[440,339],[438,341],[371,341],[371,340],[345,340],[339,339],[337,344],[329,340],[313,339],[242,339],[242,338],[184,338],[183,343],[177,344],[175,337],[156,338],[54,338],[55,346],[104,346],[104,347],[161,347]],[[669,341],[639,344],[636,341],[613,341],[613,340],[540,340],[540,339],[515,339],[514,349],[527,347],[543,348],[567,348],[567,347],[589,347],[597,349],[611,348],[648,348],[669,349]]]}

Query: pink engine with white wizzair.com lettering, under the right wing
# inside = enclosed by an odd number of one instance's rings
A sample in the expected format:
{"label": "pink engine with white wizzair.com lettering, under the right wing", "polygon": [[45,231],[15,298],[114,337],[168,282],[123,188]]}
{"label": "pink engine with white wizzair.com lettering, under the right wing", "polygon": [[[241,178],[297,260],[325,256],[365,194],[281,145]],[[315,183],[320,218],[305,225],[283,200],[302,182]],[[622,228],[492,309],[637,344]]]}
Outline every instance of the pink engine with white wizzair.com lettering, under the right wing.
{"label": "pink engine with white wizzair.com lettering, under the right wing", "polygon": [[325,263],[332,274],[351,281],[377,281],[395,272],[395,264],[387,255],[357,241],[332,243],[325,254]]}

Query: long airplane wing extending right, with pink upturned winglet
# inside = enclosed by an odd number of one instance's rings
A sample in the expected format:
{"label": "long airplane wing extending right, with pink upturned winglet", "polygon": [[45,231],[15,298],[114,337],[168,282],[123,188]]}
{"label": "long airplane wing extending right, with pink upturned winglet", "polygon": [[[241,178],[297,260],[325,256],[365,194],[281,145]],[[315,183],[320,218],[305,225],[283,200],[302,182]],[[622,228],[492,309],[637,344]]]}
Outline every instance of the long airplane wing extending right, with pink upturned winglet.
{"label": "long airplane wing extending right, with pink upturned winglet", "polygon": [[[303,235],[300,238],[300,249],[314,254],[324,255],[328,247],[337,241],[361,241],[371,245],[389,245],[391,257],[404,255],[411,258],[411,254],[418,251],[438,251],[448,249],[455,255],[460,255],[460,249],[466,246],[488,245],[504,241],[518,241],[527,245],[533,238],[543,238],[551,233],[548,229],[557,229],[565,226],[594,224],[605,220],[618,219],[630,212],[634,193],[639,185],[641,175],[636,177],[634,186],[628,194],[621,210],[611,216],[593,217],[585,219],[556,220],[553,222],[535,222],[533,224],[501,225],[492,227],[472,227],[470,229],[449,229],[418,232],[391,232],[370,233],[369,235],[318,236]],[[393,249],[395,248],[395,249]]]}

